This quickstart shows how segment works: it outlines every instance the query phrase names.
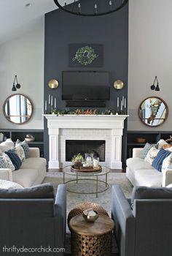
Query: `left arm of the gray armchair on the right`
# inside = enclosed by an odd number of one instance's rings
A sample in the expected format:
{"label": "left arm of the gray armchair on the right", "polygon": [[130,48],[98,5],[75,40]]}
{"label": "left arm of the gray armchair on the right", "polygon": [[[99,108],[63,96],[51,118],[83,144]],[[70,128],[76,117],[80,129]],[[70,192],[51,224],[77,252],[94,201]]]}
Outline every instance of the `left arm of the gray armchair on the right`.
{"label": "left arm of the gray armchair on the right", "polygon": [[120,256],[133,256],[135,246],[135,219],[130,204],[119,185],[112,186],[112,219]]}

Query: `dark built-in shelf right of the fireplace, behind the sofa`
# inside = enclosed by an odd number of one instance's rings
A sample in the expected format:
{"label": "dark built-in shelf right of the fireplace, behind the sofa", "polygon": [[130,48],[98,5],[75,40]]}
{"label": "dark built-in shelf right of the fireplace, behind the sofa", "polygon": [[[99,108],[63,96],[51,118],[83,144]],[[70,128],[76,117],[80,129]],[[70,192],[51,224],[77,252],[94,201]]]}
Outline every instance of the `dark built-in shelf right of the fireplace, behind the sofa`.
{"label": "dark built-in shelf right of the fireplace, behind the sofa", "polygon": [[[154,144],[158,140],[167,140],[172,135],[171,131],[128,131],[127,158],[132,157],[133,148],[143,148],[145,143]],[[145,143],[136,142],[137,138],[144,138]]]}

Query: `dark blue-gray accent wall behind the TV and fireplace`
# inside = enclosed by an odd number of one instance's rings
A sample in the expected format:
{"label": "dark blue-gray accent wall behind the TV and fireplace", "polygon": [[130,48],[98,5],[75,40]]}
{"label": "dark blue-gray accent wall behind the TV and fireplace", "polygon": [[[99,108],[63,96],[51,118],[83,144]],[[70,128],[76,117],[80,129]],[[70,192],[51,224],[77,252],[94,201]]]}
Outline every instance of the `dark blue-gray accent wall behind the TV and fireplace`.
{"label": "dark blue-gray accent wall behind the TV and fireplace", "polygon": [[[71,43],[103,44],[103,67],[69,67]],[[52,94],[57,98],[57,108],[60,110],[66,108],[66,102],[61,100],[63,70],[110,72],[110,100],[106,102],[106,108],[101,109],[117,108],[117,97],[128,96],[128,4],[120,11],[99,17],[71,15],[62,10],[55,10],[45,15],[44,99],[48,99],[48,94]],[[48,81],[52,78],[58,80],[58,89],[49,89]],[[114,90],[113,87],[114,80],[117,79],[125,83],[120,91]],[[44,143],[44,157],[48,159],[46,120],[44,120]],[[123,156],[125,157],[125,154]]]}

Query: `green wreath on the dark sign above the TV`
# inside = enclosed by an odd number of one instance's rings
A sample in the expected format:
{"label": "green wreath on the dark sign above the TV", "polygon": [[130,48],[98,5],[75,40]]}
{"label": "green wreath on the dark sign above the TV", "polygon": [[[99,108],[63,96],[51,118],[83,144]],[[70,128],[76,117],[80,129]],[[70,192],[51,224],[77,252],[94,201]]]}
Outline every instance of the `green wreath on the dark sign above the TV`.
{"label": "green wreath on the dark sign above the TV", "polygon": [[72,61],[77,61],[79,64],[87,66],[88,64],[91,64],[96,58],[98,58],[98,55],[95,54],[95,50],[90,46],[84,46],[78,48]]}

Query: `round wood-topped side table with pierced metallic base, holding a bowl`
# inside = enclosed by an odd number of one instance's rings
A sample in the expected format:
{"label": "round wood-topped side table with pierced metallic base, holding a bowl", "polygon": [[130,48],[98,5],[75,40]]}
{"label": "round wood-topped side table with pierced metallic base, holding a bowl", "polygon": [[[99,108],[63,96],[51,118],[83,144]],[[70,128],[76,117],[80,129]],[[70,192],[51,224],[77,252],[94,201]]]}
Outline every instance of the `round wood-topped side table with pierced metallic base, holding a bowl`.
{"label": "round wood-topped side table with pierced metallic base, holding a bowl", "polygon": [[69,222],[71,230],[72,256],[110,256],[112,252],[112,230],[114,222],[99,215],[95,222],[86,222],[79,214]]}

